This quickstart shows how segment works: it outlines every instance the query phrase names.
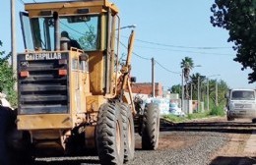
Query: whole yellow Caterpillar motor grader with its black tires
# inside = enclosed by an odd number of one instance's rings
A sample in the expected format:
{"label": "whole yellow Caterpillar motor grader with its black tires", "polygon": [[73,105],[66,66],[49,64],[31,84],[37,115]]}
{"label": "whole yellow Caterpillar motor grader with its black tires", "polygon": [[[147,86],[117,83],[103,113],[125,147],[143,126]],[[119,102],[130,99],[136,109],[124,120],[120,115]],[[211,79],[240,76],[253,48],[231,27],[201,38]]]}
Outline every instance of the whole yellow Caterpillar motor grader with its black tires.
{"label": "whole yellow Caterpillar motor grader with its black tires", "polygon": [[134,31],[126,64],[119,64],[117,7],[84,0],[30,3],[25,10],[17,126],[29,134],[32,148],[96,148],[101,164],[123,164],[134,157],[139,116],[142,148],[157,149],[159,109],[153,103],[135,109],[131,92]]}

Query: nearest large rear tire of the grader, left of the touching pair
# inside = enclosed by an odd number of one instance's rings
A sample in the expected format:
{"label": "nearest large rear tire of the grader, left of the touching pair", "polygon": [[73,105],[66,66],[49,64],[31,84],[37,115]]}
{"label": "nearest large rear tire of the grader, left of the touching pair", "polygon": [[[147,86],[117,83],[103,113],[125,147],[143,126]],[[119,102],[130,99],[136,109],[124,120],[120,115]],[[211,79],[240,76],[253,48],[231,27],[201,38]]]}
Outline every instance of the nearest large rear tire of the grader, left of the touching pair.
{"label": "nearest large rear tire of the grader, left of the touching pair", "polygon": [[114,103],[100,106],[96,123],[96,147],[100,164],[123,164],[123,122]]}

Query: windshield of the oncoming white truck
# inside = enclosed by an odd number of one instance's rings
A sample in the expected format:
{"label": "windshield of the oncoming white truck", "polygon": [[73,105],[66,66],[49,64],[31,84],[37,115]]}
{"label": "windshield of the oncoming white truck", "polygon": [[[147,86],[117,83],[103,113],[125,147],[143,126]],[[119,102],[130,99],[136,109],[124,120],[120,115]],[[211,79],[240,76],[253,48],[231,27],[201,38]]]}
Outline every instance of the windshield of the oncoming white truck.
{"label": "windshield of the oncoming white truck", "polygon": [[255,100],[255,92],[249,90],[234,90],[231,95],[232,100]]}

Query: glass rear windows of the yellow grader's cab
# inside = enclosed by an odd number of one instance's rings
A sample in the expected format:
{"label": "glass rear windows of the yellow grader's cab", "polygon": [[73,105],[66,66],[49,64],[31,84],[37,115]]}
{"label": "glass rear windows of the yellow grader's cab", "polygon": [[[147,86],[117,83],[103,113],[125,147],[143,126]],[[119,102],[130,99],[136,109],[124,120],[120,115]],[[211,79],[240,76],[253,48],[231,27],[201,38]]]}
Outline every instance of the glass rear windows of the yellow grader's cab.
{"label": "glass rear windows of the yellow grader's cab", "polygon": [[[60,31],[66,37],[79,43],[79,47],[86,51],[99,49],[99,16],[65,16],[59,18]],[[32,18],[32,39],[34,49],[54,50],[54,20],[51,17]]]}

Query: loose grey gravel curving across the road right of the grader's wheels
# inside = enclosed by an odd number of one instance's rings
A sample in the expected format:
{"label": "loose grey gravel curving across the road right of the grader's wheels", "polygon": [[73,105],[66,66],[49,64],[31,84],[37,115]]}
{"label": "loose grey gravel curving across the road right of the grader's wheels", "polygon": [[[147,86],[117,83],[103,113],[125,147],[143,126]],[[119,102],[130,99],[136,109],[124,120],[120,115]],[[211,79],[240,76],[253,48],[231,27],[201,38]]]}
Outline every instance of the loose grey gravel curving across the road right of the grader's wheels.
{"label": "loose grey gravel curving across the road right of the grader's wheels", "polygon": [[180,149],[164,149],[157,151],[138,150],[135,159],[127,165],[207,165],[210,164],[211,153],[223,146],[227,140],[220,133],[209,132],[172,132],[188,138],[201,137],[198,142]]}

